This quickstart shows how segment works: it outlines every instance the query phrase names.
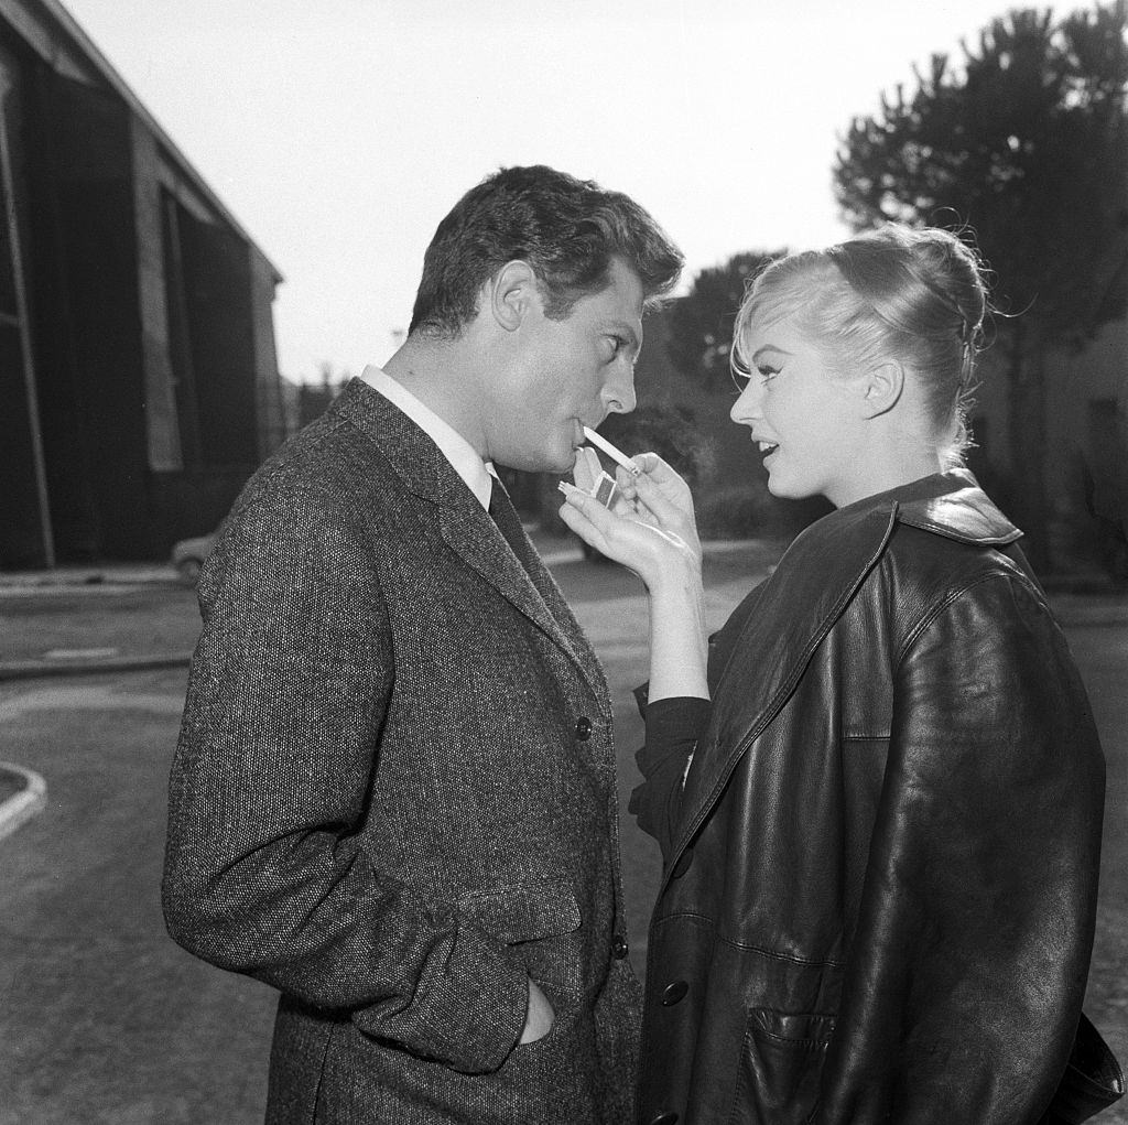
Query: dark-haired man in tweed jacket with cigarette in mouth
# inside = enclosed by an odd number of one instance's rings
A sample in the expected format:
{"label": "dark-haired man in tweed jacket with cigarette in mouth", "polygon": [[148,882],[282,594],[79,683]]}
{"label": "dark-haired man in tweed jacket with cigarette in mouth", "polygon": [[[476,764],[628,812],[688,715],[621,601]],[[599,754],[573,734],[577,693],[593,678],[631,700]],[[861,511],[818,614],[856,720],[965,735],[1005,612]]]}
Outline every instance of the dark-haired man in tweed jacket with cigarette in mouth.
{"label": "dark-haired man in tweed jacket with cigarette in mouth", "polygon": [[224,525],[164,905],[282,991],[268,1122],[631,1117],[611,705],[490,469],[564,473],[633,410],[680,265],[626,196],[503,169],[440,223],[403,348]]}

